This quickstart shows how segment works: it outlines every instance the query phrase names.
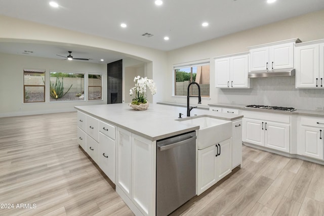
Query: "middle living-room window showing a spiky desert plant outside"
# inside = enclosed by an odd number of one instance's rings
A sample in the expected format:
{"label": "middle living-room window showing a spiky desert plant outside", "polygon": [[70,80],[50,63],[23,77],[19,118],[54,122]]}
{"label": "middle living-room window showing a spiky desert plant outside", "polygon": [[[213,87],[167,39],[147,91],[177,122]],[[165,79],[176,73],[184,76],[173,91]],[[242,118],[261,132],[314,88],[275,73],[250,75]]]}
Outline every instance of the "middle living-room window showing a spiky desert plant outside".
{"label": "middle living-room window showing a spiky desert plant outside", "polygon": [[85,74],[50,72],[50,101],[84,101]]}

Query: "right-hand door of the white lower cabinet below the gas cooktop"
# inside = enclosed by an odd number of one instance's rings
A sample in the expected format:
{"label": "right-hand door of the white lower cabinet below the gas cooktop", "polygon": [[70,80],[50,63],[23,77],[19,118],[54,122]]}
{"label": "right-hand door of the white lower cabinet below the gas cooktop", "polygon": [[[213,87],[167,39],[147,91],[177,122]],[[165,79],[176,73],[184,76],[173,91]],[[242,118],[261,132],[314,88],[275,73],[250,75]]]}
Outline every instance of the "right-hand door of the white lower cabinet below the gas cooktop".
{"label": "right-hand door of the white lower cabinet below the gas cooktop", "polygon": [[290,146],[290,126],[288,124],[270,122],[264,123],[265,140],[264,145],[271,149],[276,149],[289,153]]}

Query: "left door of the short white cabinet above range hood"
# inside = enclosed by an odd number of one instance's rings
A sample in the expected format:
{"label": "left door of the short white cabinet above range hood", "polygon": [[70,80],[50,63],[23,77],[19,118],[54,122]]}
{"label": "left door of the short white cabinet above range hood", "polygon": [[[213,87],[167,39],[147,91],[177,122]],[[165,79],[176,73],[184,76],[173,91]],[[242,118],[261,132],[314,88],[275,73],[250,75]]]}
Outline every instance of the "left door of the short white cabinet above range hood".
{"label": "left door of the short white cabinet above range hood", "polygon": [[268,70],[269,49],[268,47],[250,50],[250,70]]}

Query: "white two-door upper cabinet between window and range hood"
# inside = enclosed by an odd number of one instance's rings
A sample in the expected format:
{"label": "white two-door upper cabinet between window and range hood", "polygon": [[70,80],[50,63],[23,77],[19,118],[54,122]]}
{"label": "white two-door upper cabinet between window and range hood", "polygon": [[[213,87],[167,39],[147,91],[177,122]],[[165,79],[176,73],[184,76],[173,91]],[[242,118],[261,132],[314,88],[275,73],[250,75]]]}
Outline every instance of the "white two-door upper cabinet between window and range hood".
{"label": "white two-door upper cabinet between window and range hood", "polygon": [[234,54],[215,58],[216,88],[249,88],[249,55]]}

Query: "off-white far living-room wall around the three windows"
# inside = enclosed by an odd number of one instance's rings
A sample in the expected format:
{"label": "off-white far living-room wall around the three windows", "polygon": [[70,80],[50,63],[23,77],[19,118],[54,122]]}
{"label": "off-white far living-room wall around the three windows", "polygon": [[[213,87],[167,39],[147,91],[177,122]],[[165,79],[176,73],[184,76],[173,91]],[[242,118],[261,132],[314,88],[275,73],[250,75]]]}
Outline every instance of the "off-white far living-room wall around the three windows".
{"label": "off-white far living-room wall around the three windows", "polygon": [[[62,61],[0,53],[0,117],[75,111],[74,106],[106,104],[107,92],[100,101],[50,102],[50,70],[82,73],[102,73],[103,90],[107,87],[107,65],[80,61]],[[46,102],[23,103],[24,69],[46,70]],[[85,90],[86,91],[86,90]]]}

